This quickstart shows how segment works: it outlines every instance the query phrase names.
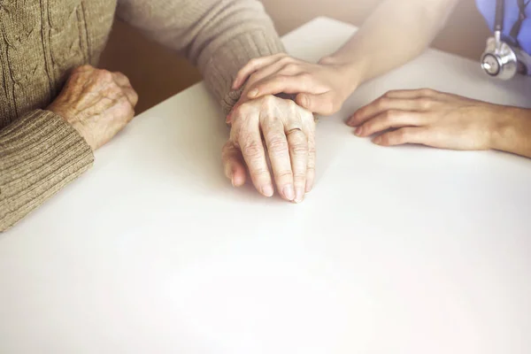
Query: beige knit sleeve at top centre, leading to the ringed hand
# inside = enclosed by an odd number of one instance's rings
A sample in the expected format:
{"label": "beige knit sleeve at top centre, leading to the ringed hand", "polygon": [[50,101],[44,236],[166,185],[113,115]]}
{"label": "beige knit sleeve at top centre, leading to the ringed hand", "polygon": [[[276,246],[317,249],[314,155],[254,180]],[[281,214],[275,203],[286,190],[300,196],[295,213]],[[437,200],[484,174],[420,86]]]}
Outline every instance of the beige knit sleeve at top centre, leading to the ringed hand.
{"label": "beige knit sleeve at top centre, leading to the ringed hand", "polygon": [[251,58],[284,51],[256,0],[119,0],[118,16],[198,65],[228,112],[239,99],[235,74]]}

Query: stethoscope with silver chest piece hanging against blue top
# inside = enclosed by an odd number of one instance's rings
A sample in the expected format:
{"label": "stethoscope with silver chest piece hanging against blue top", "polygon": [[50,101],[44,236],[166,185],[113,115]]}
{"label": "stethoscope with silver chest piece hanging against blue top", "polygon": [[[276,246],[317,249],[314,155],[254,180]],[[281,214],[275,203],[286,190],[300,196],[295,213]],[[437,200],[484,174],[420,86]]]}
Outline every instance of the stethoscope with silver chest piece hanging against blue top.
{"label": "stethoscope with silver chest piece hanging against blue top", "polygon": [[[518,0],[519,20],[511,30],[513,38],[517,38],[525,10],[531,0]],[[518,41],[511,44],[502,40],[504,32],[504,0],[496,0],[496,17],[494,23],[494,37],[487,40],[487,48],[481,56],[481,67],[490,76],[502,80],[509,80],[517,73],[531,74],[531,56],[519,48]]]}

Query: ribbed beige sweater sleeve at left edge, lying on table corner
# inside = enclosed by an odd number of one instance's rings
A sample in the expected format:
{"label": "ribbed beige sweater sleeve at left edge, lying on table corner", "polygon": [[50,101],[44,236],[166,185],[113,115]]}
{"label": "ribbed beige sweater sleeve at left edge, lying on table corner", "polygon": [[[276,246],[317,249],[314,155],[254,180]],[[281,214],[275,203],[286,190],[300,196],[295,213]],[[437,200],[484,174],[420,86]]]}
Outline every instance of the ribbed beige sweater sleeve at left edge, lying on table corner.
{"label": "ribbed beige sweater sleeve at left edge, lying on table corner", "polygon": [[0,232],[89,169],[89,144],[53,112],[28,112],[0,130]]}

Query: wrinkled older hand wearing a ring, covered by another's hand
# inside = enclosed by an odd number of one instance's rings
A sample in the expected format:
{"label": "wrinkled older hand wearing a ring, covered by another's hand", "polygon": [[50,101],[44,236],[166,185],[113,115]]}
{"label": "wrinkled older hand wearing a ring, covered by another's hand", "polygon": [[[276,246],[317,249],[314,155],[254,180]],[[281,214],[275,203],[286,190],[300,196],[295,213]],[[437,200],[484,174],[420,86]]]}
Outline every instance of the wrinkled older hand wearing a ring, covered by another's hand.
{"label": "wrinkled older hand wearing a ring, covered by another's hand", "polygon": [[[264,142],[262,142],[262,136]],[[265,146],[264,146],[265,145]],[[311,112],[293,101],[263,96],[235,107],[229,141],[223,148],[225,174],[235,187],[245,183],[246,166],[255,188],[299,203],[315,178],[315,122]]]}

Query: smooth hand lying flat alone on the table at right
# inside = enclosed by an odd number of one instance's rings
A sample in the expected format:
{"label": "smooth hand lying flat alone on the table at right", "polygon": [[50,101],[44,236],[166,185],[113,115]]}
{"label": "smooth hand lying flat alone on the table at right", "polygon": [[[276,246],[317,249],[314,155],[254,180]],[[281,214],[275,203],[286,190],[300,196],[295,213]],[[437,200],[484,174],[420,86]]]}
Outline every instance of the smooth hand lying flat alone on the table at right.
{"label": "smooth hand lying flat alone on the table at right", "polygon": [[[348,120],[355,134],[381,134],[374,143],[418,143],[453,150],[489,150],[504,106],[432,89],[389,91]],[[388,131],[388,129],[392,129]]]}

